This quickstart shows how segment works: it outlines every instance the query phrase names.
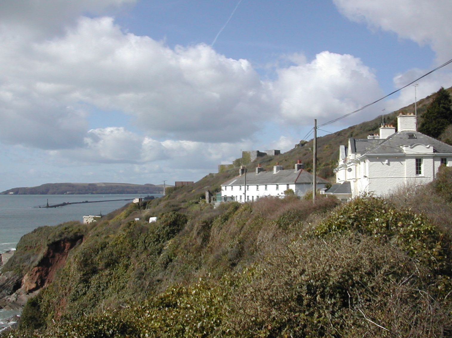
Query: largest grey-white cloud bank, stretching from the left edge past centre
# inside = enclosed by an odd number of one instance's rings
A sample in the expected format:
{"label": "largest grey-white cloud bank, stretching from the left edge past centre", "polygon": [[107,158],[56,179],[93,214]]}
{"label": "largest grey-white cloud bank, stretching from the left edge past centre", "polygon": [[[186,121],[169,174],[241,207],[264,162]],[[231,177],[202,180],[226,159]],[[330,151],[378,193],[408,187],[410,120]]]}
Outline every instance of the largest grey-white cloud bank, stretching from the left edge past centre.
{"label": "largest grey-white cloud bank, stretching from the left edge past centre", "polygon": [[[273,108],[247,60],[228,59],[203,44],[172,50],[149,37],[122,32],[113,18],[82,17],[63,37],[36,42],[25,54],[16,43],[0,53],[2,64],[9,65],[0,75],[5,84],[1,97],[9,110],[8,100],[30,102],[34,97],[44,105],[87,103],[129,114],[142,130],[158,137],[235,142],[258,130]],[[18,60],[15,55],[22,56]],[[33,114],[26,108],[23,112]],[[86,115],[79,117],[76,125]],[[2,118],[10,119],[5,112]],[[69,118],[61,109],[59,119]]]}

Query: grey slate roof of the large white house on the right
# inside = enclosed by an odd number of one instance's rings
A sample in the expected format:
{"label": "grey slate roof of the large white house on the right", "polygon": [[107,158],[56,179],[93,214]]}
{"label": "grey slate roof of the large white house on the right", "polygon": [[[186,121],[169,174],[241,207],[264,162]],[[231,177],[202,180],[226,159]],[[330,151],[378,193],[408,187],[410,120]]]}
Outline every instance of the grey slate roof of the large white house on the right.
{"label": "grey slate roof of the large white house on the right", "polygon": [[[414,137],[410,137],[409,134],[413,135]],[[421,132],[415,132],[414,130],[396,132],[395,134],[392,134],[390,137],[384,140],[359,140],[352,138],[350,139],[350,144],[354,144],[355,152],[361,155],[405,154],[401,146],[414,146],[415,144],[423,144],[425,146],[432,145],[433,153],[452,154],[452,146],[438,141],[433,137],[424,135]]]}

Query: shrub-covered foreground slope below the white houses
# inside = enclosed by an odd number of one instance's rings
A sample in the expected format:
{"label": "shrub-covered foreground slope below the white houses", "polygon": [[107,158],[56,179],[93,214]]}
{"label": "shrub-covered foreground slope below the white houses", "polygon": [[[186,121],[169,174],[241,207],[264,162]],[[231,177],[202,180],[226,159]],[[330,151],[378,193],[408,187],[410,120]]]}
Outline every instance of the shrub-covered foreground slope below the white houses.
{"label": "shrub-covered foreground slope below the white houses", "polygon": [[8,336],[451,337],[451,184],[442,168],[387,199],[199,203],[151,224],[130,205]]}

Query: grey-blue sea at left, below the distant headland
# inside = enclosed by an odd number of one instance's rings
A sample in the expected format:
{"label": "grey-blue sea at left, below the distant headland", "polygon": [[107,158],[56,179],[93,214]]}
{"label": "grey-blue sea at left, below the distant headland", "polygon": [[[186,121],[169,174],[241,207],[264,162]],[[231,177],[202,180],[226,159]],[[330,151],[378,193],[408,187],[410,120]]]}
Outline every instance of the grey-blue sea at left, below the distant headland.
{"label": "grey-blue sea at left, below the distant headland", "polygon": [[[151,196],[160,197],[161,194]],[[107,215],[144,195],[0,195],[0,253],[15,250],[24,234],[44,225],[83,222],[84,215]],[[116,201],[112,201],[116,200]],[[95,201],[44,208],[61,203]],[[0,332],[14,322],[19,311],[0,310]]]}

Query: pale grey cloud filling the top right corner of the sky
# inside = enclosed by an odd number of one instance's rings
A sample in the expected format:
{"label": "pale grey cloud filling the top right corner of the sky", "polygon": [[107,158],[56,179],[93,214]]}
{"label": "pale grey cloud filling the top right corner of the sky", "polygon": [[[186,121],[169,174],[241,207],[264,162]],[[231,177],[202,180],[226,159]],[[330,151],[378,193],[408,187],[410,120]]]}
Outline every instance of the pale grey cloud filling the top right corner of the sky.
{"label": "pale grey cloud filling the top right corner of the sky", "polygon": [[395,32],[419,45],[429,45],[439,63],[451,58],[450,27],[452,2],[443,0],[334,0],[350,20],[365,22],[372,29]]}

